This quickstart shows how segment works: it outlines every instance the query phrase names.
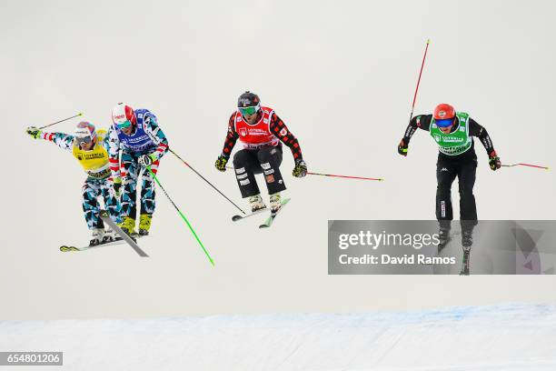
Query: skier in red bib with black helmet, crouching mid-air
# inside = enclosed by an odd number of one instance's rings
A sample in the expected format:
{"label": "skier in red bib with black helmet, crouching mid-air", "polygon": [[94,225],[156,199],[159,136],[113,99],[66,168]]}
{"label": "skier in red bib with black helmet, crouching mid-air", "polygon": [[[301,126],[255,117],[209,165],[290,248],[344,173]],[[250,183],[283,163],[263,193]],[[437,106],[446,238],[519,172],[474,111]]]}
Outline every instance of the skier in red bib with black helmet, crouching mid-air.
{"label": "skier in red bib with black helmet, crouching mid-air", "polygon": [[307,165],[297,138],[272,108],[261,106],[258,95],[245,92],[238,99],[237,111],[230,116],[223,151],[214,164],[218,170],[226,170],[238,139],[243,143],[243,149],[233,155],[233,168],[243,198],[249,197],[252,212],[266,207],[254,177],[263,173],[271,210],[278,211],[282,206],[280,192],[286,189],[280,172],[282,144],[292,150],[293,176],[307,175]]}

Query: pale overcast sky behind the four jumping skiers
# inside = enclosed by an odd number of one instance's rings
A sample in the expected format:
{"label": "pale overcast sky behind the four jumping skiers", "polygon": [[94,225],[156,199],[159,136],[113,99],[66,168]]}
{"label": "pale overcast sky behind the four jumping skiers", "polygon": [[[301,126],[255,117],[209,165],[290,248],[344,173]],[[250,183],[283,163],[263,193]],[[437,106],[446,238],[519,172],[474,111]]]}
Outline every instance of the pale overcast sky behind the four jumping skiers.
{"label": "pale overcast sky behind the four jumping skiers", "polygon": [[[1,7],[0,319],[556,302],[554,276],[326,274],[328,219],[434,217],[432,139],[417,133],[408,158],[396,153],[427,38],[415,113],[452,103],[489,130],[502,162],[552,165],[553,2],[4,0]],[[141,242],[149,259],[125,246],[58,251],[89,239],[84,173],[69,153],[31,140],[25,126],[83,111],[102,127],[117,102],[149,108],[174,150],[241,202],[233,175],[213,162],[247,89],[298,136],[310,170],[386,181],[294,179],[286,149],[293,200],[271,230],[259,231],[254,218],[232,224],[234,208],[168,154],[160,180],[215,268],[162,192],[153,236]],[[480,218],[554,217],[553,172],[492,173],[476,145]]]}

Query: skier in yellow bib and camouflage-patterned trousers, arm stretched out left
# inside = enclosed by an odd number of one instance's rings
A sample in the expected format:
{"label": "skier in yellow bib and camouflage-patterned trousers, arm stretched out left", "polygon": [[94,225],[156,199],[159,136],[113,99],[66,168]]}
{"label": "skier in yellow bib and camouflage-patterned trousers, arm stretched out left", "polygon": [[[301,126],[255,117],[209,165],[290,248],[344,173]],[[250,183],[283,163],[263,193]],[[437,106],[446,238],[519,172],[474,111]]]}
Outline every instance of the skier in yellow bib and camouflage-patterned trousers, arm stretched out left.
{"label": "skier in yellow bib and camouflage-patterned trousers, arm stretched out left", "polygon": [[108,164],[105,130],[95,130],[89,122],[77,124],[74,135],[64,133],[47,133],[35,126],[28,127],[28,135],[34,139],[45,139],[60,148],[71,151],[75,159],[83,166],[87,177],[83,185],[83,211],[87,227],[92,233],[90,246],[119,239],[108,227],[104,230],[103,220],[99,217],[99,196],[104,199],[104,207],[114,223],[122,223],[121,206],[117,196],[119,186],[113,182],[110,165]]}

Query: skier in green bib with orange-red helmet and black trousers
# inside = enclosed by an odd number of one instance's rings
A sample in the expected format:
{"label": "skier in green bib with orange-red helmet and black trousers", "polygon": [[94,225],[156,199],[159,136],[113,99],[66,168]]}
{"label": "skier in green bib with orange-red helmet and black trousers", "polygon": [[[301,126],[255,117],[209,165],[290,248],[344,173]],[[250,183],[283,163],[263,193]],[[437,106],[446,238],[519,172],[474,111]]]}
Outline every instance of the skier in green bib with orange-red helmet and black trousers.
{"label": "skier in green bib with orange-red helmet and black trousers", "polygon": [[436,163],[436,218],[440,222],[441,247],[450,236],[452,215],[452,183],[456,176],[460,190],[460,219],[462,224],[462,246],[472,246],[472,229],[477,225],[477,206],[473,196],[477,155],[473,136],[481,140],[489,155],[491,170],[501,167],[491,137],[482,125],[477,124],[468,114],[456,112],[452,105],[441,104],[434,108],[432,115],[417,115],[412,118],[398,145],[398,153],[407,155],[407,148],[417,128],[428,131],[439,149]]}

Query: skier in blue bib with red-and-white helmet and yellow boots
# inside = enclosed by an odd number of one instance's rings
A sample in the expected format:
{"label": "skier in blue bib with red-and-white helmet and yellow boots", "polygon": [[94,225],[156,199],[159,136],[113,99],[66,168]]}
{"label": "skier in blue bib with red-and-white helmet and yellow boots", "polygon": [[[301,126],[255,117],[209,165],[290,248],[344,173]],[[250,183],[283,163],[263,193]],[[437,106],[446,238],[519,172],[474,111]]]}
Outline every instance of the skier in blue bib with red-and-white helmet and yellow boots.
{"label": "skier in blue bib with red-and-white helmet and yellow boots", "polygon": [[[123,185],[122,229],[134,234],[137,215],[137,183],[141,178],[139,235],[147,236],[155,207],[153,175],[162,156],[168,151],[168,140],[158,126],[156,116],[147,109],[134,109],[121,103],[112,111],[114,125],[108,131],[108,154],[114,182]],[[121,152],[121,153],[120,153]]]}

